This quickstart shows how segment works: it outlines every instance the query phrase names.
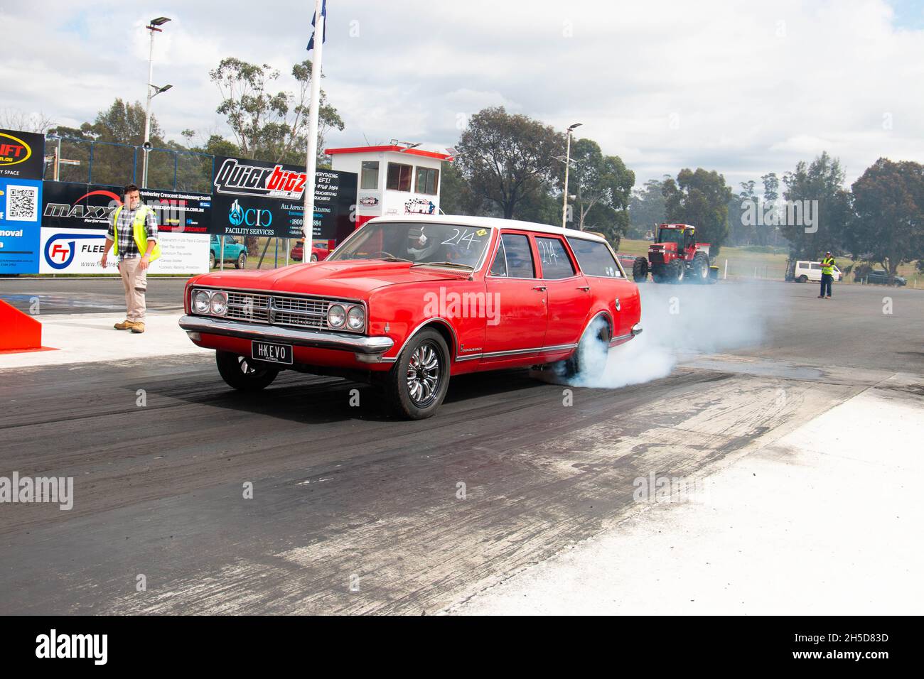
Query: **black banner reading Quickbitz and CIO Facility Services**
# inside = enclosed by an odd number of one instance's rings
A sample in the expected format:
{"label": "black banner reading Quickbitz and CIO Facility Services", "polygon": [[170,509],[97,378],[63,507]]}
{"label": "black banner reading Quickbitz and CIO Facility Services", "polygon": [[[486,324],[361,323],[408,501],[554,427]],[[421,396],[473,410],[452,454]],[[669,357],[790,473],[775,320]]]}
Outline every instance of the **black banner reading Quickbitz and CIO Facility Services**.
{"label": "black banner reading Quickbitz and CIO Facility Services", "polygon": [[[300,238],[306,175],[297,165],[240,158],[215,158],[213,222],[215,234]],[[315,173],[314,237],[348,236],[356,226],[357,175]]]}

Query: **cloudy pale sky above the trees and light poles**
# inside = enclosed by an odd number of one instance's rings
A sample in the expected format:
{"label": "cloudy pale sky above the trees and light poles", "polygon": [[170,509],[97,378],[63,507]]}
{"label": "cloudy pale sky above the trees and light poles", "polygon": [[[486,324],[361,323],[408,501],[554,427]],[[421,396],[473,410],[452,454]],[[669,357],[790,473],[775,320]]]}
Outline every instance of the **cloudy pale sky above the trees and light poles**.
{"label": "cloudy pale sky above the trees and light poles", "polygon": [[[91,120],[142,100],[147,19],[168,138],[228,133],[209,69],[225,56],[287,73],[313,2],[0,0],[0,108]],[[924,161],[924,0],[755,3],[329,0],[324,89],[346,122],[328,146],[442,150],[466,117],[505,105],[583,123],[638,184],[682,167],[737,182],[821,151],[851,182],[880,156]],[[290,87],[286,79],[280,82]]]}

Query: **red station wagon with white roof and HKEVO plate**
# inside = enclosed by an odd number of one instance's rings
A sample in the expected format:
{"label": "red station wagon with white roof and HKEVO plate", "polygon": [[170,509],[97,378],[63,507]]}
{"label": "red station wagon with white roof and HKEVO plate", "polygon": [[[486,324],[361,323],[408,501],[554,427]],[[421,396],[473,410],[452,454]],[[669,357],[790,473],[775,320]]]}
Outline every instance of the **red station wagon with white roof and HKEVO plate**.
{"label": "red station wagon with white roof and HKEVO plate", "polygon": [[194,276],[185,309],[180,327],[236,389],[280,370],[337,375],[381,385],[415,419],[452,375],[602,370],[641,332],[638,287],[601,236],[447,215],[378,217],[325,261]]}

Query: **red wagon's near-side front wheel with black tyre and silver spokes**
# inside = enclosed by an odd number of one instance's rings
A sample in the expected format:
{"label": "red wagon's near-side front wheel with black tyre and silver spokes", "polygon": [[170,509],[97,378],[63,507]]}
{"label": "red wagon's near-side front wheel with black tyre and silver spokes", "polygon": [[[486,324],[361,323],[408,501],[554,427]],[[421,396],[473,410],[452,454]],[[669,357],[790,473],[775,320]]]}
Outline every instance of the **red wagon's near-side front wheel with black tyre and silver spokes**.
{"label": "red wagon's near-side front wheel with black tyre and silver spokes", "polygon": [[392,412],[408,419],[429,418],[449,388],[449,349],[432,328],[415,334],[384,381]]}

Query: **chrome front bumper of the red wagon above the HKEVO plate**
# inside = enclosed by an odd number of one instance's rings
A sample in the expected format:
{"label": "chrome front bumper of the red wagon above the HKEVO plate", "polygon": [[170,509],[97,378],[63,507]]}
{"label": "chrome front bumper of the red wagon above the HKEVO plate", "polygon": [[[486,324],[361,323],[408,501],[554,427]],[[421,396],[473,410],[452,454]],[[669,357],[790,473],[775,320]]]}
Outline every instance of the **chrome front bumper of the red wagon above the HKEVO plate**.
{"label": "chrome front bumper of the red wagon above the HKEVO plate", "polygon": [[219,334],[224,337],[281,342],[286,345],[310,346],[316,349],[352,351],[356,354],[383,354],[395,346],[395,341],[391,337],[323,333],[317,330],[300,330],[278,325],[255,325],[207,316],[183,316],[179,320],[179,327],[187,333]]}

